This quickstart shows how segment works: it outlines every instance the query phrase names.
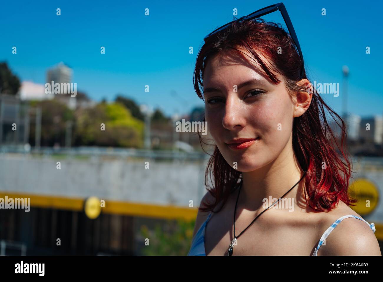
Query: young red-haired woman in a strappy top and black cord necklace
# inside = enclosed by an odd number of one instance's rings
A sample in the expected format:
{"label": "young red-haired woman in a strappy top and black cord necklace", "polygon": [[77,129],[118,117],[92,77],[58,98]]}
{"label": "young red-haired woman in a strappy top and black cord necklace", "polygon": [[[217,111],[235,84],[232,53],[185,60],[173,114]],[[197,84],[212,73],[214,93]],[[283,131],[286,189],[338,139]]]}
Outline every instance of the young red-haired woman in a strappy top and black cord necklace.
{"label": "young red-haired woman in a strappy top and black cord necklace", "polygon": [[[205,41],[193,79],[215,143],[214,187],[189,255],[381,255],[374,224],[349,207],[344,122],[301,65],[290,35],[260,18]],[[340,146],[324,107],[341,121]]]}

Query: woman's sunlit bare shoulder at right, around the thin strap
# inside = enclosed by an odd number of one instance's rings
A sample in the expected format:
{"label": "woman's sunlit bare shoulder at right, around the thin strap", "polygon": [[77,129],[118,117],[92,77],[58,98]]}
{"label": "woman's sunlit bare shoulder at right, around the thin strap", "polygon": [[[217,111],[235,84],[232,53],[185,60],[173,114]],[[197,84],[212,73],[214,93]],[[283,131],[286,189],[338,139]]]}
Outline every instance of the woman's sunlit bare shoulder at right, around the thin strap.
{"label": "woman's sunlit bare shoulder at right, around the thin strap", "polygon": [[[349,206],[339,201],[337,208],[324,213],[322,218],[322,224],[326,224],[323,225],[324,229],[327,230],[338,218],[349,214],[362,218]],[[340,221],[331,231],[325,245],[320,247],[318,255],[381,256],[381,252],[378,240],[370,226],[360,219],[350,217]]]}

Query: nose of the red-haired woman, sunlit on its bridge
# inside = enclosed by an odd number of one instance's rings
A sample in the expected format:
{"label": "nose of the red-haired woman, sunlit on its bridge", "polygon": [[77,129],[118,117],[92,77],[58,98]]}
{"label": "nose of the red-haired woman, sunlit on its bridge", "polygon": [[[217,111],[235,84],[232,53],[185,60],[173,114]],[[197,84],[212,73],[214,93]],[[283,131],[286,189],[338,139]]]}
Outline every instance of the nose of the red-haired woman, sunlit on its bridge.
{"label": "nose of the red-haired woman, sunlit on its bridge", "polygon": [[244,110],[242,109],[241,101],[238,97],[228,97],[225,104],[225,112],[222,118],[222,125],[228,130],[233,130],[235,127],[244,126],[243,118]]}

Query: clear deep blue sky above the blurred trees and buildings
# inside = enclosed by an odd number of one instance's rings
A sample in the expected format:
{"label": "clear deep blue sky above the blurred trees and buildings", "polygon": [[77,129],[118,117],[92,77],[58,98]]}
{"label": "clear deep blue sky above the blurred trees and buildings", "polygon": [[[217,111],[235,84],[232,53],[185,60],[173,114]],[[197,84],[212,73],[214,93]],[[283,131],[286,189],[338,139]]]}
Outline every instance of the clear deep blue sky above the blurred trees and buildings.
{"label": "clear deep blue sky above the blurred trees and buildings", "polygon": [[[63,61],[74,70],[77,90],[96,101],[103,97],[112,101],[121,93],[140,104],[160,107],[168,115],[185,113],[203,106],[192,82],[203,37],[231,21],[233,8],[240,17],[277,2],[4,1],[0,6],[0,61],[7,61],[22,81],[40,84],[46,82],[47,68]],[[309,78],[338,82],[342,87],[342,66],[349,66],[348,111],[381,115],[382,3],[283,3]],[[61,16],[56,15],[56,8],[61,8]],[[145,8],[149,16],[144,15]],[[326,16],[321,15],[322,8]],[[17,54],[12,54],[13,46]],[[100,54],[101,46],[105,54]],[[189,46],[194,54],[189,54]],[[365,53],[366,46],[370,54]],[[146,84],[149,93],[144,92]],[[336,112],[342,111],[342,93],[322,97]]]}

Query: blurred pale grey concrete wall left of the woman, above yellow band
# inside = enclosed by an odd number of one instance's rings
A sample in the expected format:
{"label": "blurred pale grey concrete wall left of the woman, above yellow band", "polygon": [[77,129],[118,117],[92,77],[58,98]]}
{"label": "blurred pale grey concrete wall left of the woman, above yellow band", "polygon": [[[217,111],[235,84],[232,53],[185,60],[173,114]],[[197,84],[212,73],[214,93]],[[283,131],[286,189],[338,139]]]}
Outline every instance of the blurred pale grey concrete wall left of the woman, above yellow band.
{"label": "blurred pale grey concrete wall left of the woman, above yellow band", "polygon": [[[145,169],[145,162],[149,169]],[[61,169],[56,168],[61,162]],[[146,160],[80,160],[61,157],[0,155],[0,191],[194,206],[206,193],[207,160],[158,162]]]}

